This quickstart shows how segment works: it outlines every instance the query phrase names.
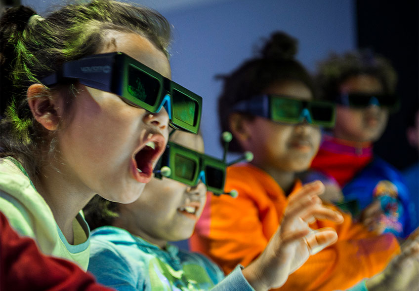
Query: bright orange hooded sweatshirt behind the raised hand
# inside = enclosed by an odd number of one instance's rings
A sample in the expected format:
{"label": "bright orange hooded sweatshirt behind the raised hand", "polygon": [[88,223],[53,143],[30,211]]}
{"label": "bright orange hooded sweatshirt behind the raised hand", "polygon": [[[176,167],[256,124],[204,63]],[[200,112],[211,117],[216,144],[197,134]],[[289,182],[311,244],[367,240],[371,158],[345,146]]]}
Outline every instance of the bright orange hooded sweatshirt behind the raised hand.
{"label": "bright orange hooded sweatshirt behind the raised hand", "polygon": [[[301,188],[296,181],[293,192]],[[228,274],[237,264],[247,266],[265,249],[287,206],[287,196],[274,179],[250,164],[227,169],[225,190],[237,198],[208,195],[207,204],[190,239],[192,251],[210,256]],[[333,207],[333,206],[331,206]],[[344,222],[316,221],[313,229],[335,228],[338,241],[310,258],[278,290],[345,290],[381,272],[400,253],[392,234],[377,236],[350,215]]]}

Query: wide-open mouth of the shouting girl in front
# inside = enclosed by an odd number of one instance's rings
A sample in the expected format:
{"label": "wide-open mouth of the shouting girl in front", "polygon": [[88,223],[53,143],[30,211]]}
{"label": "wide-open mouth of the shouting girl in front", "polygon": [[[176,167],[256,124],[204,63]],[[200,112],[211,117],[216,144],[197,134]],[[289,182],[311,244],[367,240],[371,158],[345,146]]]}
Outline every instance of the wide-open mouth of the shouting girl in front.
{"label": "wide-open mouth of the shouting girl in front", "polygon": [[[163,137],[162,137],[163,138]],[[160,139],[147,142],[133,155],[132,172],[138,182],[147,183],[153,174],[153,164],[160,157],[164,148]]]}

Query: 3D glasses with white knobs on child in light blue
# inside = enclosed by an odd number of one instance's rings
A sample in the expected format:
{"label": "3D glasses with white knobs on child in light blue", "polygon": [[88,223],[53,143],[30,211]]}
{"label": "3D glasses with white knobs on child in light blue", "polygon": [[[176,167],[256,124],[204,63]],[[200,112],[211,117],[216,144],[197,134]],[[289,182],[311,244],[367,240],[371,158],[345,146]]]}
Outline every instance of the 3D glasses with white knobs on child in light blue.
{"label": "3D glasses with white knobs on child in light blue", "polygon": [[[166,173],[164,168],[168,167]],[[184,184],[195,186],[201,180],[207,185],[208,191],[220,195],[224,193],[226,163],[209,155],[190,148],[168,142],[166,150],[160,158],[155,171],[156,178],[173,179]]]}

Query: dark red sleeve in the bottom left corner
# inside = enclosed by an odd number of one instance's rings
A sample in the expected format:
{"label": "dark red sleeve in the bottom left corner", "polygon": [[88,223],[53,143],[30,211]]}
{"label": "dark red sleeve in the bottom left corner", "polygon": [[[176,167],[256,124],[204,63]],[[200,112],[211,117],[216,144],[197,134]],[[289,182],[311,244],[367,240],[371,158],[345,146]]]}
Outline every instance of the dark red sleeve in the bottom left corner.
{"label": "dark red sleeve in the bottom left corner", "polygon": [[0,213],[0,289],[110,291],[76,264],[43,255],[35,241],[20,237]]}

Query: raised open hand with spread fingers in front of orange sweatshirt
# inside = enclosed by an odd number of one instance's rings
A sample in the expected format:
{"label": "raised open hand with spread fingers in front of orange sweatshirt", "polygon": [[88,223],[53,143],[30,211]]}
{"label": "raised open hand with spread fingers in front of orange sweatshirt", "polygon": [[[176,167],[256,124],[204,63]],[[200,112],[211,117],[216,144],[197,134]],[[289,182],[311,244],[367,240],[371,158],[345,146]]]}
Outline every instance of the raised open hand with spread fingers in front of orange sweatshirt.
{"label": "raised open hand with spread fingers in front of orange sweatshirt", "polygon": [[243,275],[255,290],[269,290],[284,285],[288,276],[310,255],[335,243],[335,229],[313,230],[309,227],[316,219],[329,219],[335,223],[343,221],[339,212],[322,204],[318,195],[323,191],[322,182],[316,181],[304,185],[289,197],[277,232],[265,251],[243,270]]}

